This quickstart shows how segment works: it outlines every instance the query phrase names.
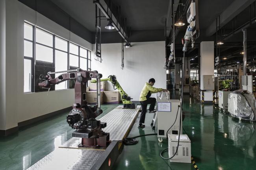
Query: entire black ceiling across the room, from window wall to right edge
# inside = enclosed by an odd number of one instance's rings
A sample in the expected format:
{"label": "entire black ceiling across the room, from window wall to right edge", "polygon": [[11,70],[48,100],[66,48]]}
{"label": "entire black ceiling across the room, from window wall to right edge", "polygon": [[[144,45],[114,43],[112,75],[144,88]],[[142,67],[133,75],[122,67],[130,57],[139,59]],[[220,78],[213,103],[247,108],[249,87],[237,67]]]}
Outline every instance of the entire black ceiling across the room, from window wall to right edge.
{"label": "entire black ceiling across the room, from window wall to right edge", "polygon": [[[93,0],[19,1],[76,33],[85,40],[91,43],[95,42],[95,4],[93,4]],[[109,2],[109,0],[105,0],[105,2]],[[171,2],[172,0],[111,0],[111,4],[115,6],[114,9],[119,6],[121,7],[122,18],[127,18],[127,26],[131,28],[130,42],[165,40],[165,18],[171,18]],[[177,3],[178,0],[174,0],[174,2]],[[179,2],[190,4],[191,0],[180,0]],[[232,10],[231,6],[234,4],[243,10],[241,12],[239,11],[239,13],[237,12],[236,15],[230,16],[228,22],[221,23],[220,31],[218,32],[218,35],[221,36],[218,39],[224,40],[226,44],[226,46],[220,48],[220,57],[228,55],[230,58],[238,57],[239,59],[240,55],[237,55],[237,53],[242,50],[243,42],[243,33],[239,28],[246,24],[249,19],[255,18],[255,0],[198,0],[200,37],[196,43],[208,40],[216,41],[216,18],[222,15],[223,12]],[[251,8],[249,8],[250,4],[252,5]],[[183,8],[181,7],[181,9]],[[183,18],[186,18],[186,12],[184,12]],[[104,28],[107,23],[107,20],[102,20],[102,43],[121,42],[121,37],[115,30],[109,31]],[[167,21],[167,23],[171,24],[172,22]],[[255,23],[256,21],[246,27],[247,41],[251,42],[249,46],[251,51],[255,49],[253,48],[256,38]],[[167,27],[169,26],[167,25]],[[181,38],[184,37],[186,27],[187,25],[178,28],[175,38],[177,54],[182,49]],[[208,33],[209,28],[212,29],[210,34]],[[233,53],[232,51],[237,51],[237,53]],[[254,52],[256,52],[256,49]],[[187,55],[189,57],[196,56],[198,55],[198,50],[189,49]],[[197,60],[193,60],[193,62],[197,62]]]}

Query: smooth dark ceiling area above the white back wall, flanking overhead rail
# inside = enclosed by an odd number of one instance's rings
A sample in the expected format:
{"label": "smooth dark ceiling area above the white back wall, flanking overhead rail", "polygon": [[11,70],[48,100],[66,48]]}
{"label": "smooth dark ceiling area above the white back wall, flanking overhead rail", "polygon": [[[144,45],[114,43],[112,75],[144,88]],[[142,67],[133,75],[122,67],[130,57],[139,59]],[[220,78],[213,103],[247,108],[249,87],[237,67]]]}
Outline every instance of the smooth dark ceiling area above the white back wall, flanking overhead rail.
{"label": "smooth dark ceiling area above the white back wall, flanking overhead rail", "polygon": [[[93,0],[51,0],[84,27],[95,32],[95,4]],[[133,31],[164,29],[169,0],[112,0],[121,7],[121,16]],[[102,20],[102,26],[107,21]],[[102,32],[108,32],[102,29]]]}

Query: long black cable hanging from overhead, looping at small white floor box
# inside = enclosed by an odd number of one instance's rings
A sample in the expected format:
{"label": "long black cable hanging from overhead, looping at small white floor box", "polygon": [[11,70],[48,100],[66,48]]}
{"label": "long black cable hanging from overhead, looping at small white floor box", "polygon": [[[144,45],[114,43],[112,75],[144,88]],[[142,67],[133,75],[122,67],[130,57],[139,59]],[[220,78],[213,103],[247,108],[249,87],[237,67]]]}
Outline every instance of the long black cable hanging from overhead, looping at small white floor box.
{"label": "long black cable hanging from overhead, looping at small white floor box", "polygon": [[[168,157],[168,158],[163,157],[163,155],[162,155],[163,152],[167,151],[168,148],[162,150],[162,151],[160,152],[160,156],[161,156],[161,158],[163,158],[163,159],[172,159],[172,158],[177,154],[178,148],[179,148],[179,144],[180,144],[180,131],[181,131],[181,121],[182,121],[181,117],[182,117],[182,105],[183,105],[183,87],[184,87],[185,51],[183,51],[182,63],[183,63],[183,65],[182,65],[182,90],[181,90],[182,92],[181,92],[181,104],[180,104],[180,127],[179,127],[178,144],[177,144],[177,147],[176,147],[176,151],[175,151],[175,153],[173,154],[172,157]],[[168,139],[168,138],[167,138],[167,139]],[[168,141],[168,142],[169,142],[169,141]]]}

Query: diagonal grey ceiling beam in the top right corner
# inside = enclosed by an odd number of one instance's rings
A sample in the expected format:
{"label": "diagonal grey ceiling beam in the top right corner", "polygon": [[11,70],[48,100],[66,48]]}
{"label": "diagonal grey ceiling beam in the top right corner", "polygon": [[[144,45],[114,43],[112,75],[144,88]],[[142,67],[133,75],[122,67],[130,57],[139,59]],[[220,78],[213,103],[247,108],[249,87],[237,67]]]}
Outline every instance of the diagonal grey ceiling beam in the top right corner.
{"label": "diagonal grey ceiling beam in the top right corner", "polygon": [[[235,0],[220,14],[220,25],[223,27],[230,22],[235,16],[245,10],[255,0]],[[219,22],[219,21],[218,21]],[[210,37],[216,32],[216,21],[206,29],[206,36]]]}

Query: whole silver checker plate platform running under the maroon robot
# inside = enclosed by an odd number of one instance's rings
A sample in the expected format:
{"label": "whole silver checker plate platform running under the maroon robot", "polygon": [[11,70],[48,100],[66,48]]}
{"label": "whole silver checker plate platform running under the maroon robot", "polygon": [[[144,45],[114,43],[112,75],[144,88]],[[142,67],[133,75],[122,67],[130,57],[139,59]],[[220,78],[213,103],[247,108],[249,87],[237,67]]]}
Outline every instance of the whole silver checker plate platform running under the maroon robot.
{"label": "whole silver checker plate platform running under the maroon robot", "polygon": [[[139,108],[120,109],[120,106],[99,119],[102,122],[107,122],[107,127],[103,130],[104,132],[109,132],[110,140],[115,142],[122,140],[128,135],[139,113]],[[28,170],[91,170],[91,168],[95,169],[96,162],[97,164],[99,161],[101,162],[100,158],[106,157],[104,154],[107,154],[105,153],[107,150],[110,153],[109,146],[106,151],[104,150],[105,148],[78,148],[77,144],[80,141],[81,138],[72,137],[59,146],[59,148],[32,165]],[[119,144],[118,149],[120,146]]]}

